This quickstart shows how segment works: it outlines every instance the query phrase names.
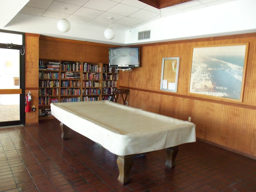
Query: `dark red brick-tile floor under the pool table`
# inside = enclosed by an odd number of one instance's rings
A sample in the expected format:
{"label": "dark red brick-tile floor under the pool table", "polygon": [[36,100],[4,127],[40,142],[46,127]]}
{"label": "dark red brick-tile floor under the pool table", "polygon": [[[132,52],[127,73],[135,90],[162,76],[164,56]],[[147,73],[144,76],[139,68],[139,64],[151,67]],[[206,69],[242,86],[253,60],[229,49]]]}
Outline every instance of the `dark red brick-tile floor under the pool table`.
{"label": "dark red brick-tile floor under the pool table", "polygon": [[134,158],[132,180],[118,182],[116,155],[57,120],[0,129],[1,192],[256,192],[256,160],[204,142],[179,147],[176,167],[165,151]]}

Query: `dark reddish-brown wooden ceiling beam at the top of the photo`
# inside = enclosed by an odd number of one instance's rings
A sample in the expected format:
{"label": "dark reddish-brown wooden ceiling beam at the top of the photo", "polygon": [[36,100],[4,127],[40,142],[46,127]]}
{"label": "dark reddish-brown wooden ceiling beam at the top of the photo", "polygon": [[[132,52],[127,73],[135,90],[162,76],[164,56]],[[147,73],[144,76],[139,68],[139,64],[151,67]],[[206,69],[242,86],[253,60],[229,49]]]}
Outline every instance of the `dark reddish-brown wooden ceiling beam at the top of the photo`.
{"label": "dark reddish-brown wooden ceiling beam at the top of the photo", "polygon": [[139,0],[155,8],[162,9],[176,4],[188,2],[191,0]]}

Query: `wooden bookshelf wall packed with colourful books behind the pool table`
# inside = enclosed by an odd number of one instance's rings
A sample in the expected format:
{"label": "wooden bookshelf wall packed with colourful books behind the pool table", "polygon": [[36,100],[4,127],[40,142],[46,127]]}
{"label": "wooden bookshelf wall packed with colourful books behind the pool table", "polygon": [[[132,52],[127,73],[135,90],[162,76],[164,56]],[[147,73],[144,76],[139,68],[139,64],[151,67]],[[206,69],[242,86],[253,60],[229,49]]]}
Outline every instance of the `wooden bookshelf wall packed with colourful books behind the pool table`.
{"label": "wooden bookshelf wall packed with colourful books behind the pool table", "polygon": [[39,60],[39,119],[54,118],[51,102],[113,100],[118,70],[108,64]]}

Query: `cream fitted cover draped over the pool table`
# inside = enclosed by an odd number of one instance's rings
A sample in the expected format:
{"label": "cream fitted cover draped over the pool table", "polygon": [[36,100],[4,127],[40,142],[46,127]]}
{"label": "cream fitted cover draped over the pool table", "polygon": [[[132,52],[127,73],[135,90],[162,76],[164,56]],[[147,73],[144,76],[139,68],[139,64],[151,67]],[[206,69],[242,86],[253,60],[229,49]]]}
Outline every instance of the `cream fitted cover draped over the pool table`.
{"label": "cream fitted cover draped over the pool table", "polygon": [[52,115],[119,155],[195,142],[195,125],[110,101],[51,103]]}

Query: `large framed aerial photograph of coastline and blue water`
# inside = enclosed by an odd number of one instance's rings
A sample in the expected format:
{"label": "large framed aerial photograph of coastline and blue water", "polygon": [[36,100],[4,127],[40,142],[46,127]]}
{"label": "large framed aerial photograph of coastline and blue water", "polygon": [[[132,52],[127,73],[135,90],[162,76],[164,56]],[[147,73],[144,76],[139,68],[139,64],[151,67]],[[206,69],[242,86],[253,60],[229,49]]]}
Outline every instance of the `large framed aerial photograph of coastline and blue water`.
{"label": "large framed aerial photograph of coastline and blue water", "polygon": [[192,47],[190,94],[242,102],[247,44]]}

